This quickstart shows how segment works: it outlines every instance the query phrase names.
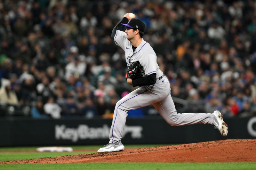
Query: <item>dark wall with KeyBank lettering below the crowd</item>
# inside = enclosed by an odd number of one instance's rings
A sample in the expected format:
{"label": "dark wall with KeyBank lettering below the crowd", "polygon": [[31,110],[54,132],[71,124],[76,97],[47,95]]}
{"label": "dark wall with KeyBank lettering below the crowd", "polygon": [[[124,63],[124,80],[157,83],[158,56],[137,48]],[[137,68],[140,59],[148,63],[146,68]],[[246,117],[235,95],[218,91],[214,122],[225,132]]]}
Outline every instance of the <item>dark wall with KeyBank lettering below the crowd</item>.
{"label": "dark wall with KeyBank lettering below the crowd", "polygon": [[[172,127],[161,117],[127,119],[125,144],[177,144],[220,139],[256,139],[256,117],[226,118],[228,136],[212,125]],[[0,119],[0,146],[107,144],[112,120]]]}

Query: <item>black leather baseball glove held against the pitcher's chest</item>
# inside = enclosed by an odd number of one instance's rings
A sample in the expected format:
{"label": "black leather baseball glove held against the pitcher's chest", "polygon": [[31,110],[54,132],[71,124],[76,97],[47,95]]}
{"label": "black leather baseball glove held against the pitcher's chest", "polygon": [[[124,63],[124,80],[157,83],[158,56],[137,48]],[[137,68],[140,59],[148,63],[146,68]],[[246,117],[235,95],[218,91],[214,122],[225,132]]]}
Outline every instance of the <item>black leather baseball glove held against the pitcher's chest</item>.
{"label": "black leather baseball glove held against the pitcher's chest", "polygon": [[143,77],[143,69],[139,61],[133,62],[125,74],[125,79],[131,78],[132,80]]}

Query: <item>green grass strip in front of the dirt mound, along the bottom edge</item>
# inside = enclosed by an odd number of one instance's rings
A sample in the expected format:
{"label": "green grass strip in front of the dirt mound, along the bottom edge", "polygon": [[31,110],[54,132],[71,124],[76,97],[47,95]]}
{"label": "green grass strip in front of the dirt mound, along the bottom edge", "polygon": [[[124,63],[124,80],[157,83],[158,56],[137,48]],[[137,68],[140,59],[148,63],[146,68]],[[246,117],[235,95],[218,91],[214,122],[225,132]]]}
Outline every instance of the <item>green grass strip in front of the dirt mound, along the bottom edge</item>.
{"label": "green grass strip in front of the dirt mound, along the bottom edge", "polygon": [[86,169],[86,170],[251,170],[256,169],[256,162],[241,163],[67,163],[67,164],[19,164],[0,165],[0,169]]}

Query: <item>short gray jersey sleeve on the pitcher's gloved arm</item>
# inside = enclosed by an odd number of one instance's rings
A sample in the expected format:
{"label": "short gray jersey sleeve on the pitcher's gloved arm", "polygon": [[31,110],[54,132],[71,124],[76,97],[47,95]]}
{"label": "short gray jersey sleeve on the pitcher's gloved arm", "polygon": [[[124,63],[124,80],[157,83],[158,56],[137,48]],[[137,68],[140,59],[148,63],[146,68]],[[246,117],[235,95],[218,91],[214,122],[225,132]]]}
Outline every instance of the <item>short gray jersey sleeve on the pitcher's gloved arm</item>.
{"label": "short gray jersey sleeve on the pitcher's gloved arm", "polygon": [[147,54],[140,60],[140,64],[143,67],[143,70],[147,76],[150,74],[156,73],[156,69],[157,69],[156,55]]}

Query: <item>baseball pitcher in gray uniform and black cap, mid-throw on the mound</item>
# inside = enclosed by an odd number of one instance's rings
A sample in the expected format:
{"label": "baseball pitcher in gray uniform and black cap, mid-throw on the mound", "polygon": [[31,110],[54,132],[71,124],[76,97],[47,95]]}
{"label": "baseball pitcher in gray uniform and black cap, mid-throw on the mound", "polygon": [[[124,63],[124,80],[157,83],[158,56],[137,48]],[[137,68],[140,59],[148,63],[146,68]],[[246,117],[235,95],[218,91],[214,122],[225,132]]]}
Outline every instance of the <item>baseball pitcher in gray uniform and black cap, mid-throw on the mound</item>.
{"label": "baseball pitcher in gray uniform and black cap, mid-throw on the mound", "polygon": [[227,136],[228,125],[223,121],[218,110],[213,113],[177,113],[170,93],[169,80],[159,69],[153,48],[142,38],[145,24],[135,17],[132,13],[126,13],[114,27],[112,38],[125,52],[128,67],[125,75],[127,83],[139,88],[116,103],[109,143],[98,152],[124,150],[121,139],[127,111],[148,105],[153,105],[171,126],[212,124],[222,136]]}

